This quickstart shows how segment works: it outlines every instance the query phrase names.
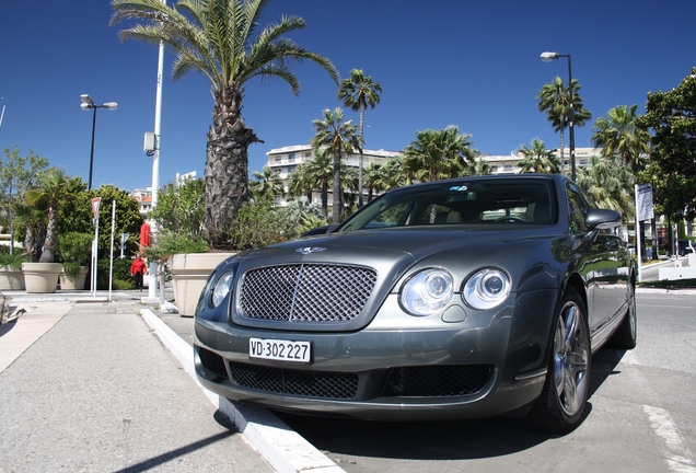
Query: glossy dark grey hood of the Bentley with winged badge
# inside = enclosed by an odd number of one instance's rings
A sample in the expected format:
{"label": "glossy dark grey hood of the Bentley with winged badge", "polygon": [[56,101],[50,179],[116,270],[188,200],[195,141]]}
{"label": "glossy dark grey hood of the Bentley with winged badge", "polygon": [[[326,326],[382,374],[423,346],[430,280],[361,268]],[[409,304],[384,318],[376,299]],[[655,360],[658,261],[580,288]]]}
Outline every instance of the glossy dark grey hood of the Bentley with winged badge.
{"label": "glossy dark grey hood of the Bentley with winged badge", "polygon": [[[236,265],[237,285],[250,270],[283,265],[346,265],[374,270],[374,286],[360,316],[340,324],[303,323],[308,331],[349,331],[367,325],[390,292],[399,290],[401,281],[425,267],[444,267],[460,284],[472,270],[482,266],[500,266],[520,273],[530,258],[543,262],[540,239],[549,239],[549,229],[495,231],[492,228],[388,229],[363,230],[304,238],[237,254],[224,265]],[[547,252],[546,252],[547,254]],[[538,263],[535,272],[543,272]],[[522,280],[523,278],[517,278]],[[234,291],[240,297],[240,286]],[[235,323],[245,326],[295,330],[292,322],[248,320],[234,312]]]}

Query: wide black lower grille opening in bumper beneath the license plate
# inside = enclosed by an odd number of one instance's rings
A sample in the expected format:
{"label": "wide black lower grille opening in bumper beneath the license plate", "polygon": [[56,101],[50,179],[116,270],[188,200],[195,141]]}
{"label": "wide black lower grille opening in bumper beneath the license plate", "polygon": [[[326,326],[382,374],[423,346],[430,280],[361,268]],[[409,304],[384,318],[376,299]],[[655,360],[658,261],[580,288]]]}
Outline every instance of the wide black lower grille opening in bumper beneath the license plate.
{"label": "wide black lower grille opening in bumper beneath the license plate", "polygon": [[361,399],[381,396],[444,397],[479,392],[495,372],[492,365],[402,367],[383,372],[357,374],[272,368],[230,362],[232,381],[253,390],[316,399]]}

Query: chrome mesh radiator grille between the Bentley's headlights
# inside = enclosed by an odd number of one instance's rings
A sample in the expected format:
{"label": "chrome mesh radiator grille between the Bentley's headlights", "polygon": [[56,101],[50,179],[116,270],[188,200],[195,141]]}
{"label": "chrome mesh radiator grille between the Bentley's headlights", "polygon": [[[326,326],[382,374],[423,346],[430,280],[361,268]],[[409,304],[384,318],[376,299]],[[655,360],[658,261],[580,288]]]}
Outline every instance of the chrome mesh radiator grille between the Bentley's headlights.
{"label": "chrome mesh radiator grille between the Bentley's headlights", "polygon": [[376,272],[358,266],[283,265],[252,269],[240,290],[240,315],[292,322],[347,322],[364,307]]}

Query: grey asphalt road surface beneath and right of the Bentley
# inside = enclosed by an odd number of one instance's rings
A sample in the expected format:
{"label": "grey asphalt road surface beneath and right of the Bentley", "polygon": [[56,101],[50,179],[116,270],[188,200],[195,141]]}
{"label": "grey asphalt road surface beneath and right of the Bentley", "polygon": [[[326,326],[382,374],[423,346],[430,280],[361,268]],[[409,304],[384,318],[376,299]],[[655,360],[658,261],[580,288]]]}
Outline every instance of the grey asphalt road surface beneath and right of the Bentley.
{"label": "grey asphalt road surface beneath and right of the Bentley", "polygon": [[554,437],[508,419],[279,416],[348,473],[695,473],[696,295],[638,293],[638,346],[592,359],[587,418]]}

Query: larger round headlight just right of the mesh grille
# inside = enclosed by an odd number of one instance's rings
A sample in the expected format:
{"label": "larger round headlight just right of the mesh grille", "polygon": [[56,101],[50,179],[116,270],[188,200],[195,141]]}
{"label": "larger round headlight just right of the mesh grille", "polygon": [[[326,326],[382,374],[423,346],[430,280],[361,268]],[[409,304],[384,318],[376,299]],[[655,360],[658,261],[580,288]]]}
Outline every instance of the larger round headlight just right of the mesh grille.
{"label": "larger round headlight just right of the mesh grille", "polygon": [[426,269],[402,289],[402,307],[411,315],[430,315],[452,300],[452,275],[444,269]]}

